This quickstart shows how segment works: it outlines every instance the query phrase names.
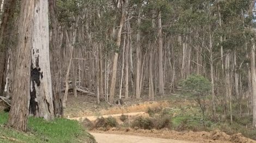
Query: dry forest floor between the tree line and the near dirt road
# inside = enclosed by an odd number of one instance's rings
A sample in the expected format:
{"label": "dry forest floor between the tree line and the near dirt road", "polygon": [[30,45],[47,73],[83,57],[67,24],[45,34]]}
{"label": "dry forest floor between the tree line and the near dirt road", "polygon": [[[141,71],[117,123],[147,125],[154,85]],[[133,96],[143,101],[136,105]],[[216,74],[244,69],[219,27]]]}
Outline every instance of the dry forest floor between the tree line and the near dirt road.
{"label": "dry forest floor between the tree line and the near dirt road", "polygon": [[[122,106],[109,105],[105,102],[96,105],[95,100],[92,96],[78,95],[75,98],[69,95],[67,108],[64,111],[65,117],[78,121],[87,118],[92,122],[101,116],[107,118],[109,115],[117,119],[118,127],[94,128],[90,131],[92,133],[136,135],[192,142],[256,142],[252,140],[256,138],[255,130],[238,123],[231,126],[228,121],[212,122],[202,117],[196,102],[178,94],[156,98],[155,101],[147,101],[147,99],[124,101]],[[132,122],[138,116],[150,116],[149,109],[156,112],[159,109],[160,111],[168,109],[168,114],[172,116],[172,128],[138,129],[120,120],[122,114],[129,116],[128,122]]]}

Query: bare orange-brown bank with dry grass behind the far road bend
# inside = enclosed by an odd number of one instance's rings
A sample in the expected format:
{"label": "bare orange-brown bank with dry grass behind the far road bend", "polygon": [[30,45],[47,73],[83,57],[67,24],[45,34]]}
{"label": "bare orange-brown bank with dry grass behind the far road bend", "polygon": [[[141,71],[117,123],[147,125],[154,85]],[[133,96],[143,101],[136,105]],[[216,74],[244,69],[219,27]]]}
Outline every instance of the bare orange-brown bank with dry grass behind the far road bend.
{"label": "bare orange-brown bank with dry grass behind the far road bend", "polygon": [[[168,97],[166,97],[168,99]],[[173,98],[173,97],[172,97]],[[67,107],[64,109],[64,116],[68,118],[76,118],[82,116],[100,116],[109,114],[123,114],[134,112],[145,112],[147,109],[156,107],[186,107],[196,106],[193,101],[184,100],[182,102],[176,100],[157,99],[156,101],[144,100],[124,100],[123,106],[113,105],[110,106],[106,102],[101,102],[100,105],[96,105],[96,99],[92,96],[78,95],[77,98],[72,95],[68,96],[66,103]]]}

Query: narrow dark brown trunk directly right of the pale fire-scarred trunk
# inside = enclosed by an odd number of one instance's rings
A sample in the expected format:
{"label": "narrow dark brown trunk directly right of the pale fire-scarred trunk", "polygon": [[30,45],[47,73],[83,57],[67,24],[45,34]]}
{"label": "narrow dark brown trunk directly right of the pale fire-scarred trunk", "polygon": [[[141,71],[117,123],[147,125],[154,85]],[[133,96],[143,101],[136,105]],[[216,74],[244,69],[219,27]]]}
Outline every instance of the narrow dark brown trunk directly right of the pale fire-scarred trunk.
{"label": "narrow dark brown trunk directly right of the pale fire-scarred trunk", "polygon": [[60,40],[58,32],[58,19],[56,16],[56,0],[49,0],[49,12],[52,25],[51,40],[51,73],[53,90],[53,111],[55,116],[63,115],[62,94],[60,92]]}

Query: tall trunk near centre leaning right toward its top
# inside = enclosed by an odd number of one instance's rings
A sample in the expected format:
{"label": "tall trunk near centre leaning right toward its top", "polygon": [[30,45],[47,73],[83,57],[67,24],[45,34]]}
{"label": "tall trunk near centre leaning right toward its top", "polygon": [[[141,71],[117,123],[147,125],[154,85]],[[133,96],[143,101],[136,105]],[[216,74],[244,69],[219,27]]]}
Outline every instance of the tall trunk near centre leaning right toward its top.
{"label": "tall trunk near centre leaning right toward its top", "polygon": [[[121,44],[121,31],[124,26],[125,22],[125,6],[126,6],[126,1],[124,1],[122,5],[122,12],[121,12],[121,19],[119,23],[119,29],[118,29],[118,34],[117,34],[117,47],[120,48]],[[115,52],[114,54],[114,59],[113,59],[113,68],[112,68],[112,77],[111,77],[111,87],[110,87],[110,93],[109,93],[109,102],[113,103],[114,101],[114,94],[115,94],[115,82],[116,82],[116,77],[117,77],[117,61],[118,61],[118,53]]]}

